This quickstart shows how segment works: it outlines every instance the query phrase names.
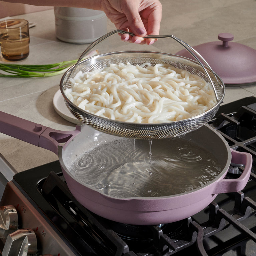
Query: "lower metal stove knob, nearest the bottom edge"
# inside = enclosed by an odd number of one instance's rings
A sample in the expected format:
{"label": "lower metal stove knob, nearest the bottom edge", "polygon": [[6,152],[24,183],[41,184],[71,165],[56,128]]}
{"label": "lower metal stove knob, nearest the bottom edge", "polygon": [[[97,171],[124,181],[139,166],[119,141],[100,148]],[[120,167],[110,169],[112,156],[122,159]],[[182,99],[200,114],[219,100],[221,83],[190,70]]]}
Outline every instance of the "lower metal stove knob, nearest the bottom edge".
{"label": "lower metal stove knob, nearest the bottom edge", "polygon": [[2,256],[36,256],[37,240],[35,232],[30,228],[18,229],[6,238]]}

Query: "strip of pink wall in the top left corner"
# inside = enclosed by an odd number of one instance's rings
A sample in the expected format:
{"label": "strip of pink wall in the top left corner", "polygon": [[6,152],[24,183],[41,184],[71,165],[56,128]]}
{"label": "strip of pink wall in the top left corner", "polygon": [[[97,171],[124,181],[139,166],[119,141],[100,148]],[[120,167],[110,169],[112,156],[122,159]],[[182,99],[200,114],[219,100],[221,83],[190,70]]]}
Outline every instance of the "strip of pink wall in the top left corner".
{"label": "strip of pink wall in the top left corner", "polygon": [[30,12],[38,12],[43,10],[53,9],[48,6],[34,6],[27,4],[14,4],[0,1],[0,18],[7,16],[20,15]]}

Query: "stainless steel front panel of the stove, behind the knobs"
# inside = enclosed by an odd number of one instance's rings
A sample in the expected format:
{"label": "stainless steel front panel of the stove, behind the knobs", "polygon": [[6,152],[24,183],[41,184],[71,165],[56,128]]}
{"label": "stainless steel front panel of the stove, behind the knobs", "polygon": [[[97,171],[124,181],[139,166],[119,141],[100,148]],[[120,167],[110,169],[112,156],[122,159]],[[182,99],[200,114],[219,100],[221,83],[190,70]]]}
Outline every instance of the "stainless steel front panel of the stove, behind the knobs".
{"label": "stainless steel front panel of the stove, behind the knobs", "polygon": [[[28,181],[29,182],[29,181]],[[52,226],[42,217],[38,212],[38,209],[35,208],[27,198],[21,193],[21,191],[13,184],[9,182],[4,191],[1,206],[11,205],[17,210],[18,214],[18,226],[19,229],[28,229],[31,232],[34,231],[37,241],[36,250],[28,251],[29,256],[38,256],[38,255],[54,255],[54,256],[73,256],[76,255],[74,252],[65,244],[63,238],[55,232]],[[3,214],[1,213],[1,216]],[[12,222],[12,220],[10,220]],[[30,231],[29,231],[30,232]],[[31,233],[30,232],[30,233]],[[25,236],[20,241],[16,241],[13,244],[5,246],[5,251],[3,252],[3,245],[6,243],[6,236],[9,231],[1,232],[1,253],[3,256],[13,256],[14,250],[19,252],[17,255],[26,255],[21,254],[22,251],[26,251],[26,241],[30,243],[29,238]],[[29,234],[30,234],[29,233]],[[16,255],[15,255],[16,256]]]}

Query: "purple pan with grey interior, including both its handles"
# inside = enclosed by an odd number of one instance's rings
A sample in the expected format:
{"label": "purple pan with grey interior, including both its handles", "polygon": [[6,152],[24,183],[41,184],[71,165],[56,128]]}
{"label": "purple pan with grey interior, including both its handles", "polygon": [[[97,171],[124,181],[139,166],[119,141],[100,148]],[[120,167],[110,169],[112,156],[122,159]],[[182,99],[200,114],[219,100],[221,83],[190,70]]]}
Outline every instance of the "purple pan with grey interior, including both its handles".
{"label": "purple pan with grey interior, including both its handles", "polygon": [[[205,148],[219,160],[222,171],[215,179],[200,188],[172,196],[118,198],[81,182],[69,171],[69,166],[88,149],[120,137],[99,132],[86,124],[76,126],[73,131],[59,131],[4,112],[0,112],[0,132],[56,153],[74,197],[90,211],[127,224],[158,225],[188,218],[207,207],[218,194],[242,190],[251,173],[252,156],[230,150],[218,132],[204,125],[183,138]],[[243,164],[244,171],[239,178],[225,179],[231,162]]]}

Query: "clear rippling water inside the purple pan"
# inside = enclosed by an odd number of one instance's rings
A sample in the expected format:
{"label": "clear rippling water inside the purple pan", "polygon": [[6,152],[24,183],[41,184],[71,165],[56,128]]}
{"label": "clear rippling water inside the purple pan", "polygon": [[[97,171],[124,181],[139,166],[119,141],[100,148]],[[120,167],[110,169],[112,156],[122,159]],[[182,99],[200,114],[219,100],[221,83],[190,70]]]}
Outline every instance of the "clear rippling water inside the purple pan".
{"label": "clear rippling water inside the purple pan", "polygon": [[205,149],[183,138],[120,139],[78,157],[70,172],[113,197],[170,196],[199,188],[221,172]]}

